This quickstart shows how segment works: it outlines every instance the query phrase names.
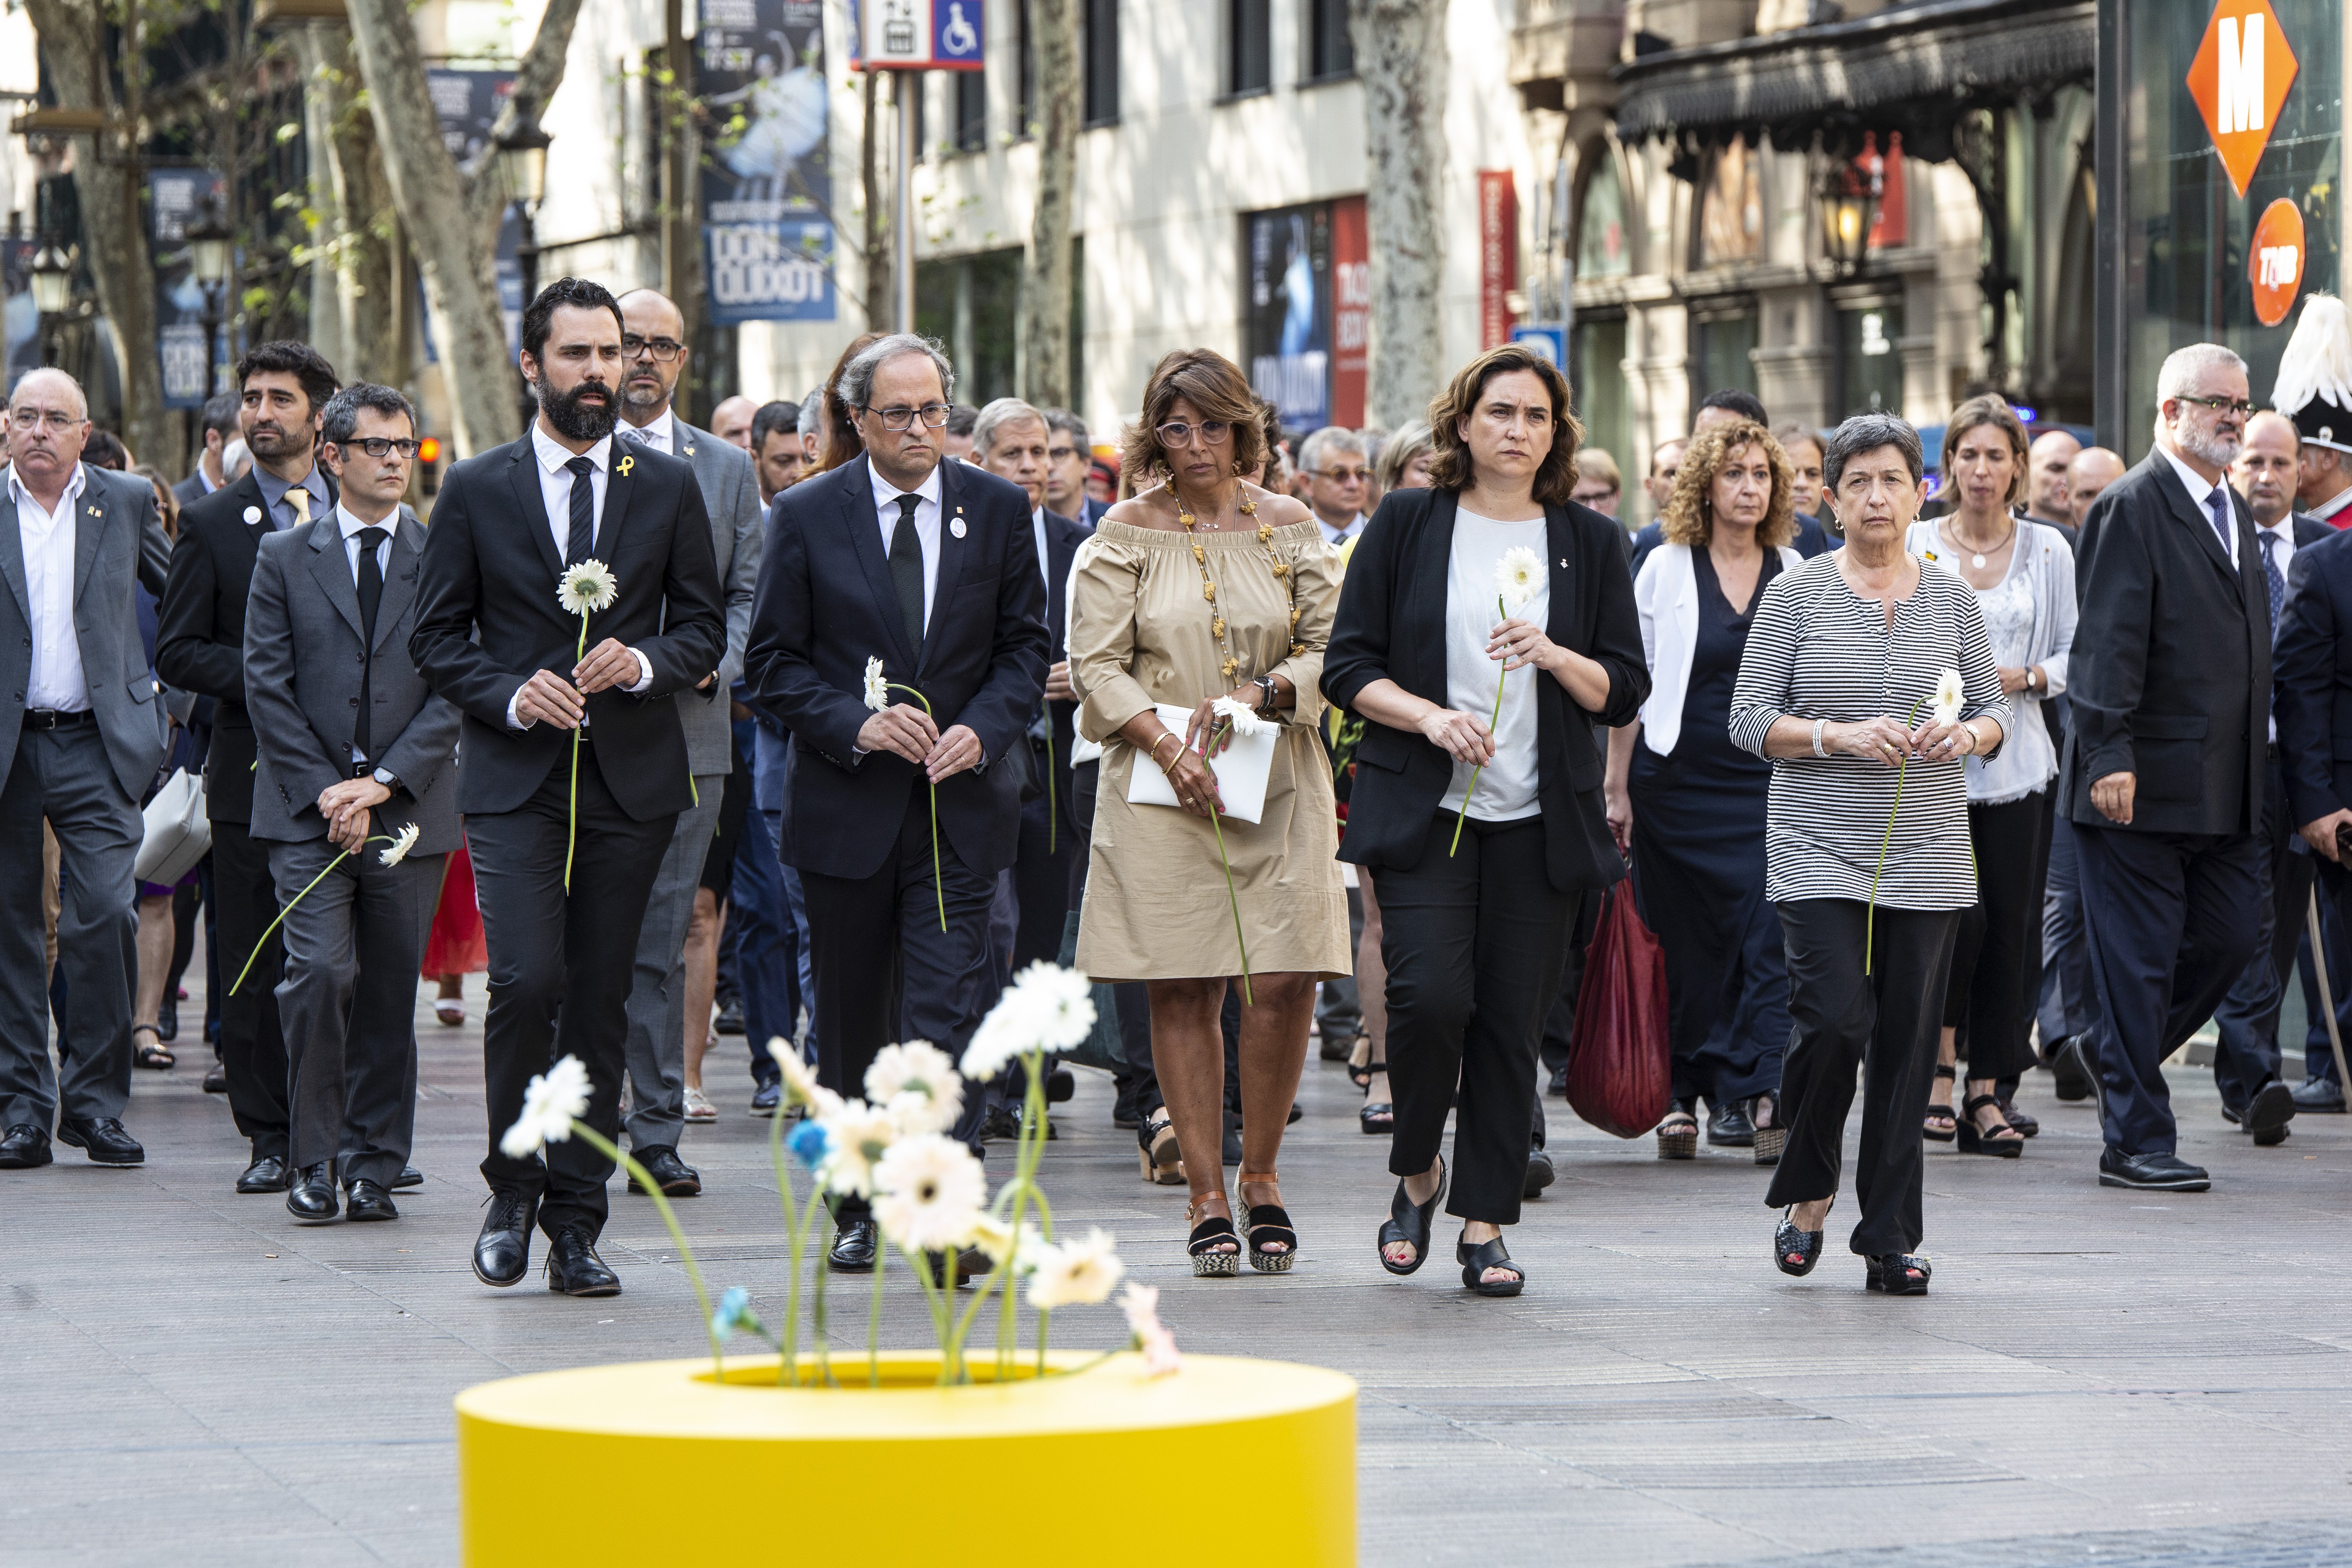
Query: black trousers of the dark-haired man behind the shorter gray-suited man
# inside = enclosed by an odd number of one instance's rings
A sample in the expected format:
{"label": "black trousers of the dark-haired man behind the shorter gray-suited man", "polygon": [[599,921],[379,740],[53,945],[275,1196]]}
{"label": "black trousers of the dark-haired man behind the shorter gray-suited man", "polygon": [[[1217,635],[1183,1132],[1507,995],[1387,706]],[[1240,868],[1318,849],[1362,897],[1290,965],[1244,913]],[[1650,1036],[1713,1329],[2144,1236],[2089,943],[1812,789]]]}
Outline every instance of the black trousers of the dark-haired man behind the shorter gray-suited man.
{"label": "black trousers of the dark-haired man behind the shorter gray-suited man", "polygon": [[[235,985],[245,957],[278,919],[270,846],[245,823],[212,825],[212,898],[219,907],[221,983]],[[228,1114],[238,1135],[254,1145],[254,1159],[287,1157],[287,1041],[278,1027],[278,983],[287,950],[278,931],[261,945],[252,973],[235,997],[221,997],[221,1072],[228,1074]],[[515,1100],[522,1107],[522,1100]],[[503,1126],[499,1131],[506,1131]]]}

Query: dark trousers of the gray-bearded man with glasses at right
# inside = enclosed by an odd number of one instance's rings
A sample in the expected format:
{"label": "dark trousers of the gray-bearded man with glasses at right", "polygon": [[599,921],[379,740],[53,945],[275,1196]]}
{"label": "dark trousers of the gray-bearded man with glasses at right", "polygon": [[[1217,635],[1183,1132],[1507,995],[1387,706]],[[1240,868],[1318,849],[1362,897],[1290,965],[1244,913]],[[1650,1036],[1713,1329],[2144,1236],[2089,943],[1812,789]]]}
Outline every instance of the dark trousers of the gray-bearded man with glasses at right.
{"label": "dark trousers of the gray-bearded man with glasses at right", "polygon": [[2251,832],[2074,825],[2098,990],[2098,1110],[2122,1154],[2178,1150],[2161,1063],[2213,1016],[2260,933]]}

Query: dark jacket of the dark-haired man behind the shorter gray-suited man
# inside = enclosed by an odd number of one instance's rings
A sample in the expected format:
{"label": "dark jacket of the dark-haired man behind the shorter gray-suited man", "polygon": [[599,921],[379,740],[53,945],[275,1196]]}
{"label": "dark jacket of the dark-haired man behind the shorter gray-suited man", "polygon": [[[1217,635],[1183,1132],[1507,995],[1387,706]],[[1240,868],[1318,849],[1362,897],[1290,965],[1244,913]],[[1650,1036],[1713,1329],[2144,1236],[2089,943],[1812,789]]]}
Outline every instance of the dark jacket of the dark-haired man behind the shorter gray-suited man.
{"label": "dark jacket of the dark-haired man behind the shorter gray-suited man", "polygon": [[[334,480],[327,482],[334,496]],[[245,512],[256,522],[245,522]],[[205,757],[205,806],[214,823],[254,813],[254,724],[245,715],[245,597],[254,552],[270,531],[259,470],[247,468],[179,512],[172,581],[155,616],[155,675],[167,686],[214,698]]]}

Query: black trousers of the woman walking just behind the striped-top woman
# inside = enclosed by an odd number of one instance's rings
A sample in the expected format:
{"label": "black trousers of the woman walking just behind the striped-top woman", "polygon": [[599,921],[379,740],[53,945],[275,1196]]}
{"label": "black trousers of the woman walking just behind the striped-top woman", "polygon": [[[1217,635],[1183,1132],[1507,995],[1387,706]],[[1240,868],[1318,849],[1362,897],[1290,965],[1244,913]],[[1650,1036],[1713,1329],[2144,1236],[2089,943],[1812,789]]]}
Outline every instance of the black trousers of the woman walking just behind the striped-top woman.
{"label": "black trousers of the woman walking just behind the striped-top woman", "polygon": [[2034,1065],[2027,1027],[2042,992],[2042,882],[2056,797],[2042,790],[1999,806],[1969,804],[1976,905],[1959,912],[1952,938],[1943,1027],[1959,1030],[1971,1079],[2013,1079]]}

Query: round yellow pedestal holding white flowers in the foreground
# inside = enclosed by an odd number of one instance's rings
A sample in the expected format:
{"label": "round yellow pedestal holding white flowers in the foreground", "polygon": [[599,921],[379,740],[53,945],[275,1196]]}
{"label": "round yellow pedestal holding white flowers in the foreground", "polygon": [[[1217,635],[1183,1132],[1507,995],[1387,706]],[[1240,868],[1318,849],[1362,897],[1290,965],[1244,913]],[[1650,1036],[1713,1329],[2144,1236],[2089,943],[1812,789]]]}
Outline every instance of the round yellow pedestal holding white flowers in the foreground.
{"label": "round yellow pedestal holding white flowers in the foreground", "polygon": [[936,1373],[887,1354],[868,1389],[866,1359],[835,1356],[844,1387],[781,1389],[753,1356],[724,1387],[708,1361],[637,1361],[466,1389],[466,1563],[1098,1568],[1138,1540],[1218,1568],[1355,1563],[1350,1378],[1240,1356],[1145,1378],[1131,1354],[1007,1385]]}

